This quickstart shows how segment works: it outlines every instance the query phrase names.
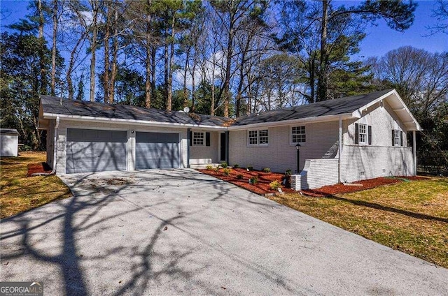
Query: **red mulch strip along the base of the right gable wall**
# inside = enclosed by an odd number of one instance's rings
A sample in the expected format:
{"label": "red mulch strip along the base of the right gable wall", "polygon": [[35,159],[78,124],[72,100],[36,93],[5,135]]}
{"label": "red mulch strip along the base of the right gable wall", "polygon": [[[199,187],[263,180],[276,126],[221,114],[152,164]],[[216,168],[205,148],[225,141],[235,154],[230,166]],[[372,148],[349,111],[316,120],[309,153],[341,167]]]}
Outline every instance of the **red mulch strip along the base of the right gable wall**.
{"label": "red mulch strip along the base of the right gable wall", "polygon": [[355,191],[362,191],[365,189],[374,188],[377,186],[384,186],[389,184],[396,184],[400,182],[405,182],[405,180],[416,181],[416,180],[424,180],[427,179],[425,177],[379,177],[374,179],[368,179],[358,182],[353,182],[353,184],[362,184],[363,186],[347,186],[342,183],[323,186],[321,188],[316,189],[306,189],[301,192],[304,195],[313,196],[316,198],[322,198],[328,195],[335,195],[340,193],[350,193]]}

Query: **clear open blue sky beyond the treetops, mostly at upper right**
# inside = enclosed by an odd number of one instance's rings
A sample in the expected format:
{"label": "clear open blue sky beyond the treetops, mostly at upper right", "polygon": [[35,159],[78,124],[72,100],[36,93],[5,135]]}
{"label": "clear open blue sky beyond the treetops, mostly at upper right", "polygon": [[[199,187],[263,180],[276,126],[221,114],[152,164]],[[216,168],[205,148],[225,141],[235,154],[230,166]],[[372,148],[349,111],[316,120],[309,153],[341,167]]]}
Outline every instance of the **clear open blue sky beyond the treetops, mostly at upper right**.
{"label": "clear open blue sky beyond the treetops, mostly at upper right", "polygon": [[[335,5],[345,4],[346,6],[356,5],[360,1],[334,1]],[[419,5],[416,8],[415,20],[412,27],[404,32],[394,31],[387,27],[383,20],[377,22],[377,26],[367,26],[367,36],[360,45],[358,57],[381,56],[390,50],[400,46],[411,45],[422,48],[429,52],[448,51],[448,35],[438,33],[427,36],[428,26],[435,24],[436,20],[431,17],[433,9],[437,8],[436,1],[416,1]],[[29,1],[1,0],[1,25],[16,22],[27,13]],[[357,57],[354,57],[355,59]]]}

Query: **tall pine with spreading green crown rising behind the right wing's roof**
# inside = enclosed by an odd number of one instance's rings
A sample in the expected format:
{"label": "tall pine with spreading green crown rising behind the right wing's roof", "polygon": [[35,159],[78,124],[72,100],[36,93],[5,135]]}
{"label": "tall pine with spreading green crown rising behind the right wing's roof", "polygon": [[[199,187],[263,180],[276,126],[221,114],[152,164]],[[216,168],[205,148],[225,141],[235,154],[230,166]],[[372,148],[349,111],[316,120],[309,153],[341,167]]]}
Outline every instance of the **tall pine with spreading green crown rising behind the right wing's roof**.
{"label": "tall pine with spreading green crown rising behind the right wing's roof", "polygon": [[[296,8],[296,9],[293,9]],[[316,98],[311,96],[312,101],[324,101],[329,98],[328,87],[330,72],[330,56],[332,47],[337,45],[335,40],[343,36],[361,36],[363,24],[383,19],[391,29],[403,31],[414,21],[414,10],[416,3],[409,1],[405,3],[400,0],[393,1],[364,1],[358,6],[335,7],[332,0],[321,0],[319,5],[307,3],[306,1],[287,1],[283,3],[281,23],[286,30],[279,38],[279,43],[293,52],[303,52],[310,38],[315,35],[309,34],[314,31],[316,24],[320,29],[318,46],[318,66],[315,67],[314,57],[312,68],[316,68],[317,84]],[[291,24],[296,24],[293,27]],[[362,38],[361,38],[362,39]],[[360,40],[360,39],[359,39]],[[314,43],[315,42],[311,42]],[[314,77],[314,72],[311,73]],[[310,82],[311,93],[314,95],[314,82]],[[311,100],[310,100],[311,101]]]}

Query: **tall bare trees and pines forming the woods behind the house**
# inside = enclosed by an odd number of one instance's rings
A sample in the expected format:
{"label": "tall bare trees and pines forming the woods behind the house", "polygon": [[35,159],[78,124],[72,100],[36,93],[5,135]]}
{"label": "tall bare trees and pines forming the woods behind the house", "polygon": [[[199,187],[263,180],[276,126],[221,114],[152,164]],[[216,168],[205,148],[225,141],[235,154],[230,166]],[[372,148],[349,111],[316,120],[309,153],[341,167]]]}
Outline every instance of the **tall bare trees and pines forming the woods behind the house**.
{"label": "tall bare trees and pines forming the woods behind the house", "polygon": [[[395,88],[424,128],[419,163],[447,167],[448,52],[358,56],[368,27],[384,20],[406,30],[415,8],[398,0],[30,1],[29,15],[1,33],[0,124],[17,128],[25,149],[45,149],[41,94],[237,117]],[[433,17],[428,35],[448,34],[447,1]]]}

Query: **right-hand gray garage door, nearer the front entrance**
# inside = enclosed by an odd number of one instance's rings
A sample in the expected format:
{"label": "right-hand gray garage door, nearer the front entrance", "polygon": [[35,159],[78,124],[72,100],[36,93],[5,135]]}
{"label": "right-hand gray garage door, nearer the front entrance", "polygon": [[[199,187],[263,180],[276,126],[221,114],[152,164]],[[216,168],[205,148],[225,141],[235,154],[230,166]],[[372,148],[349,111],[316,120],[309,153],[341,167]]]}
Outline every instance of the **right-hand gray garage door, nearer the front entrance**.
{"label": "right-hand gray garage door, nearer the front entrance", "polygon": [[135,168],[179,168],[179,133],[135,135]]}

